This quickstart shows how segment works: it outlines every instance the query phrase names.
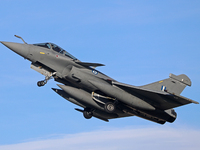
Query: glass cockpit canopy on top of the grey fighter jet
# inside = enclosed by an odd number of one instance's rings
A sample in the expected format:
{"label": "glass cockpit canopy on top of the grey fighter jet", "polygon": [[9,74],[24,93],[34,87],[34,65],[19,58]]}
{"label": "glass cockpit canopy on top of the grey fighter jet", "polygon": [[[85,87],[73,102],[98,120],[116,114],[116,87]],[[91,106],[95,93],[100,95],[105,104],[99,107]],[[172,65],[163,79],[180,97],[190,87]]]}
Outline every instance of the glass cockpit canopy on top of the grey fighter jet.
{"label": "glass cockpit canopy on top of the grey fighter jet", "polygon": [[64,49],[62,49],[61,47],[59,47],[56,44],[53,44],[53,43],[39,43],[39,44],[33,44],[33,45],[40,46],[40,47],[45,47],[45,48],[48,48],[48,49],[53,49],[54,51],[56,51],[58,53],[61,53],[61,54],[64,54],[65,56],[70,57],[73,60],[77,60],[76,57],[72,56],[71,54],[69,54],[67,51],[65,51]]}

